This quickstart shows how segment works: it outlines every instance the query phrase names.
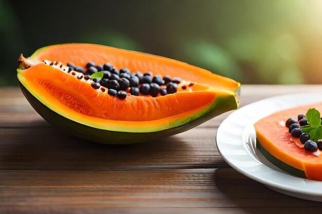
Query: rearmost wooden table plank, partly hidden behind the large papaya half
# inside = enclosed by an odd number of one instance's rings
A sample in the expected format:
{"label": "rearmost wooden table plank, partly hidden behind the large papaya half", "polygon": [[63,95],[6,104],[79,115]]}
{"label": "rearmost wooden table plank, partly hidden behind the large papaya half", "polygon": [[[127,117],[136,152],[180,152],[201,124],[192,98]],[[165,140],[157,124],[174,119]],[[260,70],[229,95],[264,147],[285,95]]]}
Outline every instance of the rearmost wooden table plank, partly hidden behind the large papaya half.
{"label": "rearmost wooden table plank, partly hidden behind the large papaya half", "polygon": [[[281,94],[318,91],[322,91],[321,85],[243,85],[241,87],[241,106]],[[19,88],[1,88],[0,101],[0,127],[48,125],[39,123],[43,119],[33,110]],[[211,120],[212,123],[206,125],[211,124],[211,126],[218,127],[226,115],[228,114],[218,116]],[[24,123],[21,123],[22,121]]]}

